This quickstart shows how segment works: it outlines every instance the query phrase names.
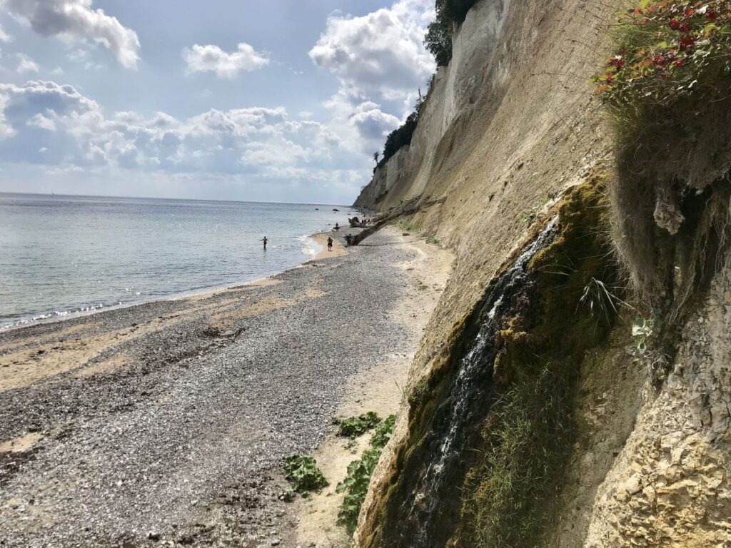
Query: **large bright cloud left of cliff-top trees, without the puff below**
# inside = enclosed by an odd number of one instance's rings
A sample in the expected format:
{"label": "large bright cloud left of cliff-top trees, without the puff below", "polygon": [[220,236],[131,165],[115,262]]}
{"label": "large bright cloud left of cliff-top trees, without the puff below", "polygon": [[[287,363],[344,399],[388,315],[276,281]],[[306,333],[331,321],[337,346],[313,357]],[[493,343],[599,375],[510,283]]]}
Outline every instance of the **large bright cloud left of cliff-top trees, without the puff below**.
{"label": "large bright cloud left of cliff-top trees, without the puff below", "polygon": [[331,15],[309,56],[352,94],[402,99],[435,69],[423,43],[433,5],[433,0],[399,0],[362,17]]}

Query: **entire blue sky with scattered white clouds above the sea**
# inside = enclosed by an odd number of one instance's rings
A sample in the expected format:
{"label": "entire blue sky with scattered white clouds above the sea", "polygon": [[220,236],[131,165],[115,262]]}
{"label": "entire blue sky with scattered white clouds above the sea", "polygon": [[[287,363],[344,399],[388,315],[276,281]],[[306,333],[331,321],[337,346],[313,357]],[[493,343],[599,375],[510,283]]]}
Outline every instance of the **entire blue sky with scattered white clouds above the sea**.
{"label": "entire blue sky with scattered white clouds above the sea", "polygon": [[433,0],[0,0],[0,191],[349,203]]}

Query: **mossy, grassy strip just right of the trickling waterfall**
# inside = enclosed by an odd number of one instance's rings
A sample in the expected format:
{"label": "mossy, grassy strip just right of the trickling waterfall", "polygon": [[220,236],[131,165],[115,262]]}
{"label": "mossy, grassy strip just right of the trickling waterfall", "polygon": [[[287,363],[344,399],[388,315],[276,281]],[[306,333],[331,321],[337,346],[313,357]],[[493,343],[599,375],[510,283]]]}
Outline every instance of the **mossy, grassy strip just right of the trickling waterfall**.
{"label": "mossy, grassy strip just right of the trickling waterfall", "polygon": [[619,299],[606,213],[605,176],[595,175],[561,201],[558,236],[531,261],[534,298],[499,332],[499,397],[466,475],[455,546],[540,546],[553,520],[575,438],[580,364],[616,319],[611,305],[582,300],[597,281],[605,298]]}

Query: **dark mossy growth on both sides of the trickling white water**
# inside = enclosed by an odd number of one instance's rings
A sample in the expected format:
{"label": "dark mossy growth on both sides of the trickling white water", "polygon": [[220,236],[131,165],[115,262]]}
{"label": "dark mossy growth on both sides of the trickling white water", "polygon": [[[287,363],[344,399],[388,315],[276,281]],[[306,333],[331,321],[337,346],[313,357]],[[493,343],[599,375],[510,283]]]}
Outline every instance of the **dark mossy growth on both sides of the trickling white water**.
{"label": "dark mossy growth on both sides of the trickling white water", "polygon": [[[485,352],[488,361],[475,378],[479,384],[471,396],[460,461],[447,471],[444,492],[418,493],[415,486],[441,444],[439,433],[449,427],[442,421],[449,416],[444,410],[455,405],[450,394],[461,359],[474,346],[490,303],[481,302],[455,326],[431,375],[409,398],[408,441],[397,451],[397,470],[366,546],[406,546],[404,539],[415,527],[404,525],[414,496],[438,498],[432,514],[438,523],[432,527],[446,535],[445,541],[451,536],[450,546],[540,544],[553,519],[556,485],[575,431],[571,410],[580,363],[586,350],[605,338],[615,317],[599,313],[601,307],[585,297],[596,281],[610,294],[618,286],[605,205],[605,177],[596,175],[556,206],[556,237],[534,255],[524,283],[504,295],[511,300],[506,310],[512,316],[496,320],[499,326]],[[491,283],[486,300],[488,294],[495,297],[499,280]]]}

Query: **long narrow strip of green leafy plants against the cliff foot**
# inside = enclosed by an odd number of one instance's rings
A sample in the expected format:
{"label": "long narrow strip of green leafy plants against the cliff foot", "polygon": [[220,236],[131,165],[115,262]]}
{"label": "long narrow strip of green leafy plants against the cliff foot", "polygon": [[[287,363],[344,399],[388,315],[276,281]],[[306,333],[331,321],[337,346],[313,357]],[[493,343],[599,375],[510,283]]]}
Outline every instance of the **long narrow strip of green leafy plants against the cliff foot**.
{"label": "long narrow strip of green leafy plants against the cliff foot", "polygon": [[363,506],[363,501],[366,500],[368,493],[368,484],[371,482],[371,476],[376,469],[383,448],[391,438],[395,422],[396,416],[390,415],[376,427],[371,438],[370,449],[366,449],[360,459],[354,460],[348,465],[345,479],[336,488],[337,492],[346,493],[338,512],[338,523],[344,525],[349,533],[355,530],[360,507]]}

